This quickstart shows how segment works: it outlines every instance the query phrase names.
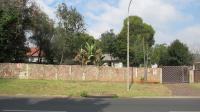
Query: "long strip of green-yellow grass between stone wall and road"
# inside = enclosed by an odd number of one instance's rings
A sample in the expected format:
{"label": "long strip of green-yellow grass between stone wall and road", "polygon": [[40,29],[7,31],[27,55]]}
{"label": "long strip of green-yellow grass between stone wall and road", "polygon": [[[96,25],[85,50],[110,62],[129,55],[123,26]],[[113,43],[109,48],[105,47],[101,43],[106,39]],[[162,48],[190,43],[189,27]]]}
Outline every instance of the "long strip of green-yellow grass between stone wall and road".
{"label": "long strip of green-yellow grass between stone wall and road", "polygon": [[125,83],[0,79],[0,95],[81,96],[85,93],[117,94],[119,97],[171,95],[162,84],[133,84],[127,92]]}

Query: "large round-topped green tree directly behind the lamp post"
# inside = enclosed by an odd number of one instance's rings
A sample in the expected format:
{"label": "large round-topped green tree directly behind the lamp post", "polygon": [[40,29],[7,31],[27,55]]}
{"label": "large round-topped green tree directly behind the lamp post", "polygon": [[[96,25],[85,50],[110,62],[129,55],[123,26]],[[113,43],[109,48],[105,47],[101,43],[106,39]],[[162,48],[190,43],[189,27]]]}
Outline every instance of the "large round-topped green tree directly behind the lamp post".
{"label": "large round-topped green tree directly behind the lamp post", "polygon": [[[130,65],[139,66],[147,59],[148,49],[154,44],[155,31],[152,26],[143,22],[138,16],[130,16]],[[124,26],[116,39],[114,56],[125,64],[127,54],[127,18]]]}

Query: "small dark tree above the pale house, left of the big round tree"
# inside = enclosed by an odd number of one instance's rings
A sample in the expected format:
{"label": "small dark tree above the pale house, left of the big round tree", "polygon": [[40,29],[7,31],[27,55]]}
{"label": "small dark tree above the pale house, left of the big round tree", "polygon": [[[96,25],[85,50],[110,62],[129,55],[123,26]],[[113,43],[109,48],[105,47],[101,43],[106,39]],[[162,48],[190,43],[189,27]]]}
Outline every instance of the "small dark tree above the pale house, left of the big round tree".
{"label": "small dark tree above the pale house, left of the big round tree", "polygon": [[116,35],[113,30],[101,34],[100,42],[104,53],[108,53],[113,57],[115,51]]}

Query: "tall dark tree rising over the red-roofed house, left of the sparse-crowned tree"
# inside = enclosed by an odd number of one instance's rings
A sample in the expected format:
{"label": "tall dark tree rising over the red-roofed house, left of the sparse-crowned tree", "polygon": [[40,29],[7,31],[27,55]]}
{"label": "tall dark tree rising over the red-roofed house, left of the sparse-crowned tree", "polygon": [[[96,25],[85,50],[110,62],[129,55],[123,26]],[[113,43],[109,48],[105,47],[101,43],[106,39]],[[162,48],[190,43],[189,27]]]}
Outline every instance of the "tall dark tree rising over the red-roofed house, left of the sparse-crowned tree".
{"label": "tall dark tree rising over the red-roofed house, left of the sparse-crowned tree", "polygon": [[42,52],[45,58],[49,61],[53,61],[51,56],[51,39],[54,34],[54,23],[49,17],[41,11],[38,7],[35,9],[35,13],[31,19],[32,21],[32,42],[39,49],[38,63],[41,63]]}

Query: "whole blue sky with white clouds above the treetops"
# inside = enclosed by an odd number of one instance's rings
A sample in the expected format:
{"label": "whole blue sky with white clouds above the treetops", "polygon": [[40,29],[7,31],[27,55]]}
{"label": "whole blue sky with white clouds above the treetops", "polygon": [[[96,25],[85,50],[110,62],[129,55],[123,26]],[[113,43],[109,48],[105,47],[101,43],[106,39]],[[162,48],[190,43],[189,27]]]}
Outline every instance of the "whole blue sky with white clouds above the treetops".
{"label": "whole blue sky with white clouds above the treetops", "polygon": [[[87,32],[99,38],[110,29],[118,34],[128,16],[130,0],[35,0],[56,21],[60,3],[77,8],[84,16]],[[158,44],[179,39],[190,48],[200,48],[200,0],[133,0],[131,15],[140,16],[155,29]]]}

